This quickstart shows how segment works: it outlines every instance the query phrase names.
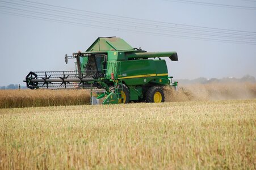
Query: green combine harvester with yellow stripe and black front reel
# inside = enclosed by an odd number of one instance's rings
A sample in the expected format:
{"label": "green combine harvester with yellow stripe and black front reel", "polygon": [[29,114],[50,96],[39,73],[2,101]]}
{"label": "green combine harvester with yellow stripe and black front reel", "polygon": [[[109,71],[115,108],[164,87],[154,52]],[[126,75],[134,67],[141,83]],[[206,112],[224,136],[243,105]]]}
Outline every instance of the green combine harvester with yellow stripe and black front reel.
{"label": "green combine harvester with yellow stripe and black front reel", "polygon": [[[91,104],[165,101],[164,86],[171,82],[166,61],[178,61],[177,52],[146,52],[119,37],[99,37],[86,52],[65,56],[76,59],[75,71],[31,71],[24,82],[37,88],[89,88]],[[157,58],[157,59],[156,59]]]}

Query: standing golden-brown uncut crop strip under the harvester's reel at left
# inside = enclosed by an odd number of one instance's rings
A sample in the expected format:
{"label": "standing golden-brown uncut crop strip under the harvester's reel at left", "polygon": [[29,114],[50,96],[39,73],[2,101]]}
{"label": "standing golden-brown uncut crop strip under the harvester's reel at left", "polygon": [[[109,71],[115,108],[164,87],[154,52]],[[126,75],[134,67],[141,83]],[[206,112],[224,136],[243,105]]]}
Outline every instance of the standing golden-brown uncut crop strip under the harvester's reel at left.
{"label": "standing golden-brown uncut crop strip under the harvester's reel at left", "polygon": [[89,90],[0,90],[0,108],[90,104]]}

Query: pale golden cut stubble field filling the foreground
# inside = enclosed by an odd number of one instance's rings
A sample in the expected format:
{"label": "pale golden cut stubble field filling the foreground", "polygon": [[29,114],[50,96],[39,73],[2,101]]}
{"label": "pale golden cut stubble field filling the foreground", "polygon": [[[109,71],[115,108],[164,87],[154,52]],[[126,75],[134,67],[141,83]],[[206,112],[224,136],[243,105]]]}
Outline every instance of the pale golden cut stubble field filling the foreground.
{"label": "pale golden cut stubble field filling the foreground", "polygon": [[255,99],[12,108],[0,117],[0,169],[255,169]]}

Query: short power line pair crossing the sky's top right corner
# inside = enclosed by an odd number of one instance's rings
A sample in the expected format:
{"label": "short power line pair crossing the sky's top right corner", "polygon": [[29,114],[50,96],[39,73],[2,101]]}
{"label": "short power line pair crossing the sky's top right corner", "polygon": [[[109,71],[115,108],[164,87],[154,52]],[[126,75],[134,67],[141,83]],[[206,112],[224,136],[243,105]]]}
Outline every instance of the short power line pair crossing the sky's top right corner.
{"label": "short power line pair crossing the sky's top right corner", "polygon": [[220,3],[209,3],[209,2],[200,2],[200,1],[187,1],[187,0],[163,0],[163,1],[187,3],[187,4],[203,5],[203,6],[213,6],[213,7],[237,8],[241,10],[256,10],[256,7],[225,5]]}

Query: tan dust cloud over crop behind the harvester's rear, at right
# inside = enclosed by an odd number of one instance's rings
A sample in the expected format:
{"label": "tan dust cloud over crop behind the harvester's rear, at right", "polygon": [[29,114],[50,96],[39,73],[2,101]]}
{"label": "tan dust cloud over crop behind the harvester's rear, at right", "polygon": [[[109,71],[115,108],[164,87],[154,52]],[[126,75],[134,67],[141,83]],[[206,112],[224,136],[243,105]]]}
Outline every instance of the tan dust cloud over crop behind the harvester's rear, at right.
{"label": "tan dust cloud over crop behind the harvester's rear, at right", "polygon": [[165,101],[255,99],[256,83],[207,83],[165,88]]}

